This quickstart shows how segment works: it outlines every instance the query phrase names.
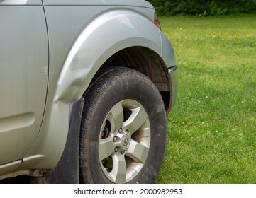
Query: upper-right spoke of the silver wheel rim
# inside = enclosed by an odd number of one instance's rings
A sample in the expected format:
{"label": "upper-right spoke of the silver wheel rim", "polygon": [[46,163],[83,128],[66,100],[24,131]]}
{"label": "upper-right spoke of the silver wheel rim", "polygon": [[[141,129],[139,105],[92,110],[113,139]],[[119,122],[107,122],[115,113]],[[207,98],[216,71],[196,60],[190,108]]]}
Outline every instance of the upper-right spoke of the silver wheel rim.
{"label": "upper-right spoke of the silver wheel rim", "polygon": [[143,125],[147,118],[147,112],[142,106],[140,106],[132,110],[132,114],[130,115],[128,120],[126,120],[126,122],[123,122],[123,127],[126,127],[126,129],[129,130],[130,134],[133,134]]}

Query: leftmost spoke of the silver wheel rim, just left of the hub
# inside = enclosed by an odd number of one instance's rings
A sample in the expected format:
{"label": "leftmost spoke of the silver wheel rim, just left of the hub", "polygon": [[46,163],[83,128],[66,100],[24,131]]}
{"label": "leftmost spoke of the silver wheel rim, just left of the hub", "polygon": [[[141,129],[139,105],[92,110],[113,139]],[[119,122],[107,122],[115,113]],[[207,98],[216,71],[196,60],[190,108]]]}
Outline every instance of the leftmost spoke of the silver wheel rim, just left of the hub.
{"label": "leftmost spoke of the silver wheel rim, just left of the hub", "polygon": [[109,136],[99,141],[99,160],[103,160],[113,153],[113,139]]}

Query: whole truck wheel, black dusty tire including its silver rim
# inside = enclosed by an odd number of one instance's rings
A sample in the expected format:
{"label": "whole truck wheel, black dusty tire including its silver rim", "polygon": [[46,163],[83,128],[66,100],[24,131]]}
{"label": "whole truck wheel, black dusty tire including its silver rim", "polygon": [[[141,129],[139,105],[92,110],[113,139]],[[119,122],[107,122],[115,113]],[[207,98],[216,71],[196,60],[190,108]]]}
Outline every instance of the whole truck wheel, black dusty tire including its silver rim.
{"label": "whole truck wheel, black dusty tire including its silver rim", "polygon": [[83,97],[79,182],[154,182],[165,153],[167,119],[152,81],[133,69],[108,67]]}

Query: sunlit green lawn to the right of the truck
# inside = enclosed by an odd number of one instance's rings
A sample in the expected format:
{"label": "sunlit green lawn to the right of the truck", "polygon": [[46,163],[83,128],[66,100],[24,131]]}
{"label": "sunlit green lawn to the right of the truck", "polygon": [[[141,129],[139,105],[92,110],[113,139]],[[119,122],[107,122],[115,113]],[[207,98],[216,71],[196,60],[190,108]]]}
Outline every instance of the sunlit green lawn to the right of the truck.
{"label": "sunlit green lawn to the right of the truck", "polygon": [[256,183],[256,16],[160,21],[179,92],[157,183]]}

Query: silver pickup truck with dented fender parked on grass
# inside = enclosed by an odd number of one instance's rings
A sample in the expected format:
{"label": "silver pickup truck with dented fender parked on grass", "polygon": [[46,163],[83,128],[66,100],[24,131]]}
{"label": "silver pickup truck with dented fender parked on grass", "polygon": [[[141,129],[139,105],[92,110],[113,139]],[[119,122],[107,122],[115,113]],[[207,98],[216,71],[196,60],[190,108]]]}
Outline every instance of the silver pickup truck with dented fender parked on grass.
{"label": "silver pickup truck with dented fender parked on grass", "polygon": [[152,183],[177,64],[144,0],[0,0],[0,180]]}

